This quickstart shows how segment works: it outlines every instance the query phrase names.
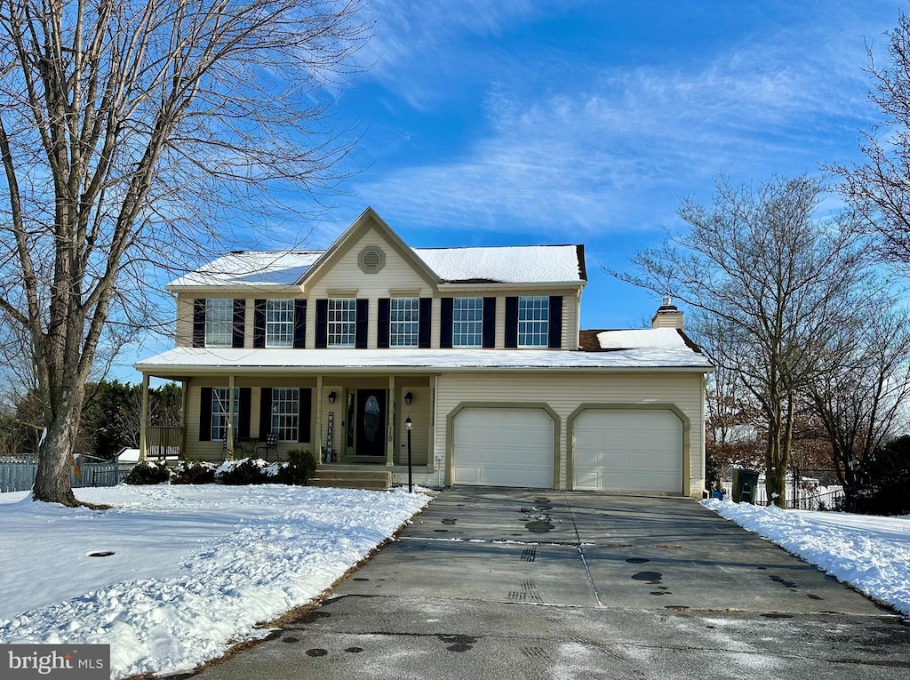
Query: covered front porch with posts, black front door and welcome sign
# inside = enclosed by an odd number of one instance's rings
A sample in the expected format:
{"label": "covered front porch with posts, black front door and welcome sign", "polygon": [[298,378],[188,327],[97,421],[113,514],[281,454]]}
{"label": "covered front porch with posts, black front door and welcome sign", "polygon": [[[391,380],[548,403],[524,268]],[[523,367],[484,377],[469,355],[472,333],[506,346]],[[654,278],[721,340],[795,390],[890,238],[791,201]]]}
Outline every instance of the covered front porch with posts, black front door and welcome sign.
{"label": "covered front porch with posts, black front door and welcome sign", "polygon": [[183,386],[180,427],[149,424],[149,377],[143,376],[140,460],[182,455],[209,462],[228,456],[275,461],[304,450],[317,457],[320,471],[355,474],[381,467],[390,482],[399,483],[407,482],[410,441],[415,479],[434,483],[439,476],[442,483],[431,453],[433,375],[157,371],[155,377]]}

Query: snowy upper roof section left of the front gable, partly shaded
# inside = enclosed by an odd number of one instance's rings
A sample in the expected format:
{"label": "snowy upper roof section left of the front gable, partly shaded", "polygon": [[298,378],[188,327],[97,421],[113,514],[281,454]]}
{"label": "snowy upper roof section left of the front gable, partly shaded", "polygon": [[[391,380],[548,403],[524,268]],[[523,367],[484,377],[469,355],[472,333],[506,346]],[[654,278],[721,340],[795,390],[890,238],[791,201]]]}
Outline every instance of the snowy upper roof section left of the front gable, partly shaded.
{"label": "snowy upper roof section left of the front gable, partly shaded", "polygon": [[238,250],[174,279],[184,286],[293,286],[319,259],[322,250]]}

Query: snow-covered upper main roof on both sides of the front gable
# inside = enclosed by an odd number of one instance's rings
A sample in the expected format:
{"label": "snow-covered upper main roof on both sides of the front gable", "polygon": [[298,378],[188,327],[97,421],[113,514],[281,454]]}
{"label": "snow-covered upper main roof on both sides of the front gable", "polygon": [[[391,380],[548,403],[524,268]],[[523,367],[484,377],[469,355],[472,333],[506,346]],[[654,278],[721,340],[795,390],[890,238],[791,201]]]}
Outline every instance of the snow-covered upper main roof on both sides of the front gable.
{"label": "snow-covered upper main roof on both sides of the front gable", "polygon": [[[240,250],[171,281],[186,286],[293,286],[323,250]],[[576,283],[585,280],[579,246],[428,248],[414,253],[441,282]]]}

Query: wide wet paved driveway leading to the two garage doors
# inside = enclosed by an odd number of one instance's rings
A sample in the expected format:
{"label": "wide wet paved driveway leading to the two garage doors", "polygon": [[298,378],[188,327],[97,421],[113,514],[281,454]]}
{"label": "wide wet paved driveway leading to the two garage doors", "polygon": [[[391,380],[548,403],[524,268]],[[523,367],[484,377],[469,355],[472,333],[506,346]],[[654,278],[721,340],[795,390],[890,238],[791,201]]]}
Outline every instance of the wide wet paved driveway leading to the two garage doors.
{"label": "wide wet paved driveway leading to the two garage doors", "polygon": [[890,610],[688,499],[442,492],[319,609],[206,680],[905,680]]}

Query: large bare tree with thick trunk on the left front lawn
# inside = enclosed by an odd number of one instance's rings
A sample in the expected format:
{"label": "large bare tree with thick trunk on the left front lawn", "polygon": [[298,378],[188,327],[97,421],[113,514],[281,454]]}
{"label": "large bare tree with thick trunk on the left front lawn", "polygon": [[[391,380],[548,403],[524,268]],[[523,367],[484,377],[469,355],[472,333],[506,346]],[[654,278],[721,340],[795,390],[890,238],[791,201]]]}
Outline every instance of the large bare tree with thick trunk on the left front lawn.
{"label": "large bare tree with thick trunk on the left front lawn", "polygon": [[[46,438],[35,500],[75,505],[85,383],[149,323],[155,267],[288,218],[349,144],[326,86],[356,0],[0,0],[0,311],[25,329]],[[247,221],[244,221],[247,220]],[[268,227],[268,225],[266,225]],[[223,246],[222,246],[223,247]]]}

